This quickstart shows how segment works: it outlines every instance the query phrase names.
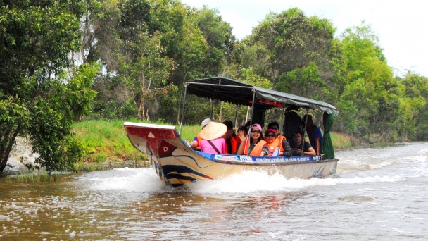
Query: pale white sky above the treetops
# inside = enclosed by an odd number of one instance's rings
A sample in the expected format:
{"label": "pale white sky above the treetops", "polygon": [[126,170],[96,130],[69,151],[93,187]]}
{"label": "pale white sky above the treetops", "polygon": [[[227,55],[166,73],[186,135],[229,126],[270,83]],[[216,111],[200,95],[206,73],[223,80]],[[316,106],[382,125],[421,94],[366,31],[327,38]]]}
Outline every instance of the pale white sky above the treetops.
{"label": "pale white sky above the treetops", "polygon": [[428,1],[423,0],[181,0],[187,6],[218,9],[233,27],[238,39],[250,35],[253,27],[270,11],[280,13],[300,8],[306,16],[332,21],[336,37],[361,20],[372,25],[394,73],[407,70],[428,77]]}

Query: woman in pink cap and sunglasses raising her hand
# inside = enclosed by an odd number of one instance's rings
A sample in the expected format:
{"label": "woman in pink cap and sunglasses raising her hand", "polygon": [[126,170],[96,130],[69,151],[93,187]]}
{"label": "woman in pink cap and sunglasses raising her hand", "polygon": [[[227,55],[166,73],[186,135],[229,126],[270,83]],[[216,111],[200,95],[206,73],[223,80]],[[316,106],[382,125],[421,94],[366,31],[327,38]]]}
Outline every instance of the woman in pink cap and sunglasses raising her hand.
{"label": "woman in pink cap and sunglasses raising her hand", "polygon": [[251,125],[251,135],[247,137],[244,135],[243,131],[238,133],[239,138],[241,138],[241,144],[239,145],[238,155],[247,155],[250,156],[267,156],[269,149],[265,146],[266,142],[263,140],[262,127],[259,124]]}

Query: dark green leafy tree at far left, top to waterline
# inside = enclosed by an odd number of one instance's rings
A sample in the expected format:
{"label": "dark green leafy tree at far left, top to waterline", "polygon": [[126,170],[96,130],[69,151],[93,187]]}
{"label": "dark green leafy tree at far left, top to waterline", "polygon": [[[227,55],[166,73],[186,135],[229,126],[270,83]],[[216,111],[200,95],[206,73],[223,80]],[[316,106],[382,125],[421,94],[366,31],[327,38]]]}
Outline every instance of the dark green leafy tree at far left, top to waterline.
{"label": "dark green leafy tree at far left, top to waterline", "polygon": [[70,70],[80,47],[82,1],[0,3],[0,171],[17,135],[30,135],[36,163],[47,171],[73,169],[80,157],[70,124],[87,113],[97,66]]}

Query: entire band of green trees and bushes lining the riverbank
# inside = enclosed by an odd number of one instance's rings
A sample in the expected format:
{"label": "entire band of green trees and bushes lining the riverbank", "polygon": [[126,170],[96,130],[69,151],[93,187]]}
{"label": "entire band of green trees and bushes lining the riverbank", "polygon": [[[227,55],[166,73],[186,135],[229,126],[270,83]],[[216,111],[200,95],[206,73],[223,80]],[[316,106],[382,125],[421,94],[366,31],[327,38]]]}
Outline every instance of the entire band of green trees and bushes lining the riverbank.
{"label": "entire band of green trees and bushes lining the riverbank", "polygon": [[[82,155],[144,158],[122,123],[120,132],[101,128],[94,132],[102,137],[85,140],[70,126],[77,130],[73,121],[91,109],[92,118],[180,123],[184,82],[213,75],[327,101],[340,111],[334,130],[372,142],[428,140],[428,79],[393,78],[364,22],[335,39],[329,20],[289,8],[237,42],[217,10],[175,0],[6,0],[0,30],[0,171],[17,135],[30,135],[36,168],[48,172],[75,170]],[[189,141],[204,118],[234,121],[237,111],[237,123],[246,121],[245,106],[189,95],[186,102],[184,122],[197,126],[186,131]],[[105,145],[105,137],[118,141]]]}

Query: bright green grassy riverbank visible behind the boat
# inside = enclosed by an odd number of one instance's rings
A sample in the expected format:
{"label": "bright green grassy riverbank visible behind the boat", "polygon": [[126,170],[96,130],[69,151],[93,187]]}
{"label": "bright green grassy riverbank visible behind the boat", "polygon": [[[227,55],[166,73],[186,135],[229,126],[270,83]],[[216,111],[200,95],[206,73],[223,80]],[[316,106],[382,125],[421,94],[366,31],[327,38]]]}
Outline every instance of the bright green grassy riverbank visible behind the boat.
{"label": "bright green grassy riverbank visible behind the boat", "polygon": [[[139,122],[137,120],[131,121]],[[73,132],[84,147],[83,162],[147,160],[146,154],[135,149],[128,140],[123,123],[124,121],[82,121],[75,123]],[[175,128],[179,130],[180,126],[175,125]],[[191,142],[200,130],[200,125],[184,125],[182,137],[187,142]],[[335,149],[346,149],[358,144],[355,138],[341,133],[332,133],[332,142]]]}

